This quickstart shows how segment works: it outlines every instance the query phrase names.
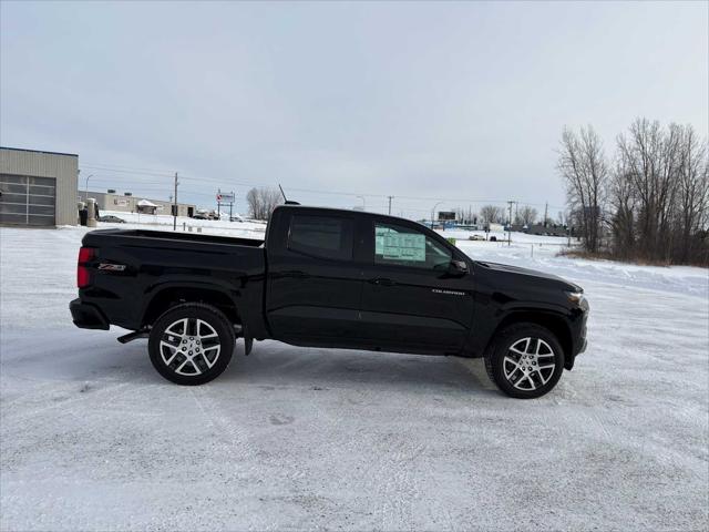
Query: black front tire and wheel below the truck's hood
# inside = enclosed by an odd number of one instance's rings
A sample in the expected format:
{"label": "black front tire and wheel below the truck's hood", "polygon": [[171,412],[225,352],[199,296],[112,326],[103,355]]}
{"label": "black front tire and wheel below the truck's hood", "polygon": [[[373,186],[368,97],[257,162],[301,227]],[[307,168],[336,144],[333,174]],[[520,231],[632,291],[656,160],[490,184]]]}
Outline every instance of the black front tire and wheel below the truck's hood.
{"label": "black front tire and wheel below the truck's hood", "polygon": [[501,391],[517,399],[549,392],[564,371],[564,350],[556,336],[535,324],[503,329],[485,355],[485,369]]}

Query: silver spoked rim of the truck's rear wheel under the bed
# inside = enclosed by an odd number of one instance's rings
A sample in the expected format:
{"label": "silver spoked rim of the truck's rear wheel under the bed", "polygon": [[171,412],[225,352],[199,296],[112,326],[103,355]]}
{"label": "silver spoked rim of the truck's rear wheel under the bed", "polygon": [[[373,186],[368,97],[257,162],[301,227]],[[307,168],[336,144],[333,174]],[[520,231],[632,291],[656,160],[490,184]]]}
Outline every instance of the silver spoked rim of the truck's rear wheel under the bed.
{"label": "silver spoked rim of the truck's rear wheel under the bed", "polygon": [[208,323],[198,318],[172,323],[160,341],[163,364],[175,374],[187,377],[212,369],[220,351],[219,335]]}

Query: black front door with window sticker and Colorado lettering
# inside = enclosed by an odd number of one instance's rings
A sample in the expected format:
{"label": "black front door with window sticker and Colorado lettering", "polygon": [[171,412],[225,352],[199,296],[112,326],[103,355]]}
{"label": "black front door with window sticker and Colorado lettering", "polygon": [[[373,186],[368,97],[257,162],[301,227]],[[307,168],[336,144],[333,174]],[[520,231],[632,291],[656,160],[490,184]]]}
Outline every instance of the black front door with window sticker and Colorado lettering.
{"label": "black front door with window sticker and Colorado lettering", "polygon": [[473,280],[470,269],[452,273],[451,260],[465,257],[418,224],[381,218],[369,231],[363,337],[382,349],[458,352],[472,325]]}

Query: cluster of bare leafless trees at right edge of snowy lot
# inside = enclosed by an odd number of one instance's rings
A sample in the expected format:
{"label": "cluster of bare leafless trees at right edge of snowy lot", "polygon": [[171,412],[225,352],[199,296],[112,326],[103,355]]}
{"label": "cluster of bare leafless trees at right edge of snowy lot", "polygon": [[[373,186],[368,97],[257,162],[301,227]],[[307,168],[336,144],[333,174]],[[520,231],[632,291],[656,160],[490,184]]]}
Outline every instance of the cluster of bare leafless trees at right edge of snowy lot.
{"label": "cluster of bare leafless trees at right edge of snowy lot", "polygon": [[557,167],[584,249],[708,265],[708,154],[691,125],[637,119],[610,157],[593,126],[565,129]]}

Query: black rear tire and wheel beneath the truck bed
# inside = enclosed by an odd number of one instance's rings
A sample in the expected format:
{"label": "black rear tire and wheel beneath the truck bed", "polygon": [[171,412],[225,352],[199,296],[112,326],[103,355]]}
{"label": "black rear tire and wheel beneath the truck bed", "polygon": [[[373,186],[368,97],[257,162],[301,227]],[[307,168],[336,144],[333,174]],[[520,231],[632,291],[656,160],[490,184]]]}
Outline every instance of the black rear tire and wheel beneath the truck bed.
{"label": "black rear tire and wheel beneath the truck bed", "polygon": [[196,386],[224,372],[235,342],[234,327],[224,313],[212,305],[185,303],[157,318],[147,349],[153,367],[164,378]]}

